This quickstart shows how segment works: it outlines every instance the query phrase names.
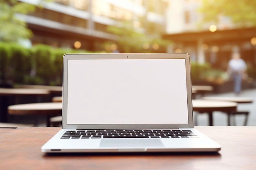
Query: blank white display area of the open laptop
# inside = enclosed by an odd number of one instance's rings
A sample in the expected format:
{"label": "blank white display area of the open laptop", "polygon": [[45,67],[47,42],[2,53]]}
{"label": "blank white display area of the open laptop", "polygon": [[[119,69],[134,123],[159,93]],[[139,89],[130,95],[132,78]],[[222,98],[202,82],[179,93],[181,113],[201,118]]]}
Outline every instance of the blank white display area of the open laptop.
{"label": "blank white display area of the open laptop", "polygon": [[188,124],[185,59],[68,60],[67,124]]}

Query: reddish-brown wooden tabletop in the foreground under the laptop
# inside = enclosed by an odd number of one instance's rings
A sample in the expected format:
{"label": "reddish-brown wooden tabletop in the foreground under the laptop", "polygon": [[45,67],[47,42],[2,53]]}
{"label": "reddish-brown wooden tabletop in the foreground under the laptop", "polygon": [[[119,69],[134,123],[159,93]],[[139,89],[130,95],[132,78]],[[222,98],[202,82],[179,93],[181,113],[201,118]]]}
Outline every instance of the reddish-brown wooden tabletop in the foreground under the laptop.
{"label": "reddish-brown wooden tabletop in the foreground under the laptop", "polygon": [[[1,170],[255,170],[256,126],[195,127],[222,145],[211,153],[57,154],[40,148],[60,128],[0,128]],[[246,131],[246,132],[245,132]]]}

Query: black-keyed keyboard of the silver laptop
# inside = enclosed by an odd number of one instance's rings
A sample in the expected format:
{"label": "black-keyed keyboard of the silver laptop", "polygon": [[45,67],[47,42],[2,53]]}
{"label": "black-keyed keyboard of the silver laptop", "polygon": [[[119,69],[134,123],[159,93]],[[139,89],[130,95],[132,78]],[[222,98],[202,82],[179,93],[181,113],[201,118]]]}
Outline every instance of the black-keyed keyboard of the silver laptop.
{"label": "black-keyed keyboard of the silver laptop", "polygon": [[61,139],[184,138],[198,137],[191,130],[69,130]]}

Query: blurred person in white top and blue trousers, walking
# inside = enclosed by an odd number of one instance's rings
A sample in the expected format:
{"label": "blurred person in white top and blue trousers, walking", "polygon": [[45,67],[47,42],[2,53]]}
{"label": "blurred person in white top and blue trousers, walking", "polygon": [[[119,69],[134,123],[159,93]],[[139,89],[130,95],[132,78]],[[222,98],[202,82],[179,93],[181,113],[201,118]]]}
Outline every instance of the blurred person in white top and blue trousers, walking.
{"label": "blurred person in white top and blue trousers, walking", "polygon": [[247,78],[247,65],[243,59],[240,58],[240,53],[233,53],[232,59],[229,60],[227,66],[227,73],[229,77],[234,80],[234,93],[239,95],[243,79]]}

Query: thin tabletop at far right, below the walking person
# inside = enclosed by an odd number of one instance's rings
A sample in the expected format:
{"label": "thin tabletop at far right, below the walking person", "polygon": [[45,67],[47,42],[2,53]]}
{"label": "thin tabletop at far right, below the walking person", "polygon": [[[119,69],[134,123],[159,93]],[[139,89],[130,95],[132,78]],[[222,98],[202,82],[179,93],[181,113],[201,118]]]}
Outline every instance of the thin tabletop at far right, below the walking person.
{"label": "thin tabletop at far right, below the walking person", "polygon": [[252,103],[253,99],[249,97],[220,97],[220,96],[208,96],[202,97],[204,100],[218,100],[218,101],[229,101],[236,103]]}

